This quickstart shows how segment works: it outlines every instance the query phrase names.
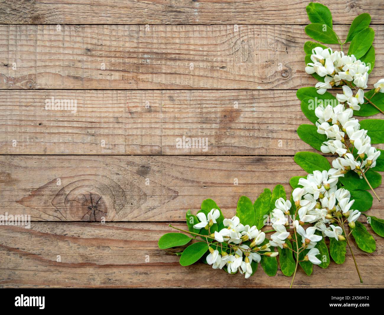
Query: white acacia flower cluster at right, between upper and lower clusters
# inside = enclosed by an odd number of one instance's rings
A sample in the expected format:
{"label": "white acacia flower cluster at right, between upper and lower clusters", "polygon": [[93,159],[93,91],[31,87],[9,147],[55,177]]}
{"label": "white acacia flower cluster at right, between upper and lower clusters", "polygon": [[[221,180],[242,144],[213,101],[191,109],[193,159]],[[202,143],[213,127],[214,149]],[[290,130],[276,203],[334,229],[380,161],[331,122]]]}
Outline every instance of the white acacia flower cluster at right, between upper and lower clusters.
{"label": "white acacia flower cluster at right, between upper and lower clusters", "polygon": [[334,176],[354,170],[362,178],[369,167],[376,166],[381,152],[371,146],[367,130],[360,129],[359,120],[352,117],[351,108],[345,109],[343,104],[336,107],[321,104],[315,109],[315,115],[318,117],[317,132],[329,138],[321,145],[321,152],[339,155],[332,162]]}

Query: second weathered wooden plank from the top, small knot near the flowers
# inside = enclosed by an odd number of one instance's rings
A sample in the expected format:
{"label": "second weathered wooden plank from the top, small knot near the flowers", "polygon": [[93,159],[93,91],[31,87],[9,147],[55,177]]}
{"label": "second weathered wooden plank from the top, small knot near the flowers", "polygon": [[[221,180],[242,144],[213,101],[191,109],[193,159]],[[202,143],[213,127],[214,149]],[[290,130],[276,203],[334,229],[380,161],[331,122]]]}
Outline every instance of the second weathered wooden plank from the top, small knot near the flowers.
{"label": "second weathered wooden plank from the top, small knot near the flowers", "polygon": [[[2,25],[0,88],[296,89],[315,84],[304,71],[303,45],[309,39],[304,26],[236,27]],[[376,69],[370,83],[384,72],[384,25],[373,28]],[[348,27],[335,30],[345,38]]]}

